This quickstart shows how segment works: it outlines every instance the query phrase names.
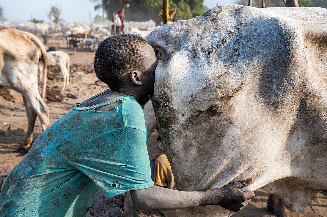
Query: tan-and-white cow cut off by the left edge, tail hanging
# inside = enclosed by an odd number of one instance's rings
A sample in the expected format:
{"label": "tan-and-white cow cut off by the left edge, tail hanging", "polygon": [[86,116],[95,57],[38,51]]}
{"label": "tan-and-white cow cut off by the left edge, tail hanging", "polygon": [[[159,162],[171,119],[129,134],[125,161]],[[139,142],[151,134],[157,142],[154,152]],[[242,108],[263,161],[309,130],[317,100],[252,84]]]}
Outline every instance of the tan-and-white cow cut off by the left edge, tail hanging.
{"label": "tan-and-white cow cut off by the left edge, tail hanging", "polygon": [[[47,65],[45,48],[36,36],[12,28],[0,31],[0,85],[16,90],[23,96],[28,120],[26,137],[21,144],[25,149],[32,143],[36,116],[40,118],[43,130],[50,123],[49,109],[38,90],[40,60]],[[46,67],[43,73],[44,99]]]}

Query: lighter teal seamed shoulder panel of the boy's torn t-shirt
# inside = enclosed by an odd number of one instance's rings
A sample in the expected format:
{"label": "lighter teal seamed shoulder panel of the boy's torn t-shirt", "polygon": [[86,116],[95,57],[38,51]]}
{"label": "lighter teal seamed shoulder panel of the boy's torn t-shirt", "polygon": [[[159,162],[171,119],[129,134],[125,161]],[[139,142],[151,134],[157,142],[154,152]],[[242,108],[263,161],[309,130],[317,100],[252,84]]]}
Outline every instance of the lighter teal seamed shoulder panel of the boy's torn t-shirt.
{"label": "lighter teal seamed shoulder panel of the boy's torn t-shirt", "polygon": [[142,106],[132,97],[126,97],[122,103],[124,127],[139,129],[146,133],[146,119]]}

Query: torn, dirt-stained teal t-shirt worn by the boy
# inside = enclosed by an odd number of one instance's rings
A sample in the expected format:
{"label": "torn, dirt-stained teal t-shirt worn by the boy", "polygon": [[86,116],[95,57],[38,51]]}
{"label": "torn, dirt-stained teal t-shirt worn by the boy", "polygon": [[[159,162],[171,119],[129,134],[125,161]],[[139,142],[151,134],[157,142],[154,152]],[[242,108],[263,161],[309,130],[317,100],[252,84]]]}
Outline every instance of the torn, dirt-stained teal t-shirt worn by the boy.
{"label": "torn, dirt-stained teal t-shirt worn by the boy", "polygon": [[[95,111],[115,101],[122,104]],[[86,217],[99,189],[111,197],[153,185],[141,105],[128,95],[77,105],[35,140],[4,180],[1,217]]]}

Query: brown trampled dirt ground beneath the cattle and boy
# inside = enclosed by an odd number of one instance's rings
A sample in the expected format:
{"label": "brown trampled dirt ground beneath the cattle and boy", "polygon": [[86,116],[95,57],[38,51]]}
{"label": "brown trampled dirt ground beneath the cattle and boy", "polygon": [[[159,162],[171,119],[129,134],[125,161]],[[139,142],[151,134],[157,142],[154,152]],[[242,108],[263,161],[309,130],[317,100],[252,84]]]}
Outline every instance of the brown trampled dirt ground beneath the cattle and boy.
{"label": "brown trampled dirt ground beneath the cattle and boy", "polygon": [[[58,118],[66,114],[77,102],[82,102],[89,97],[100,93],[107,88],[107,85],[101,83],[96,78],[93,71],[94,52],[90,50],[77,51],[77,56],[74,56],[74,51],[69,49],[60,49],[70,56],[70,84],[63,92],[63,100],[61,102],[45,101],[50,110],[50,122],[53,123]],[[80,72],[81,71],[81,72]],[[47,85],[49,90],[55,86],[61,87],[62,78],[60,74],[48,72],[49,78]],[[42,90],[40,85],[40,91]],[[72,92],[78,95],[77,99],[66,97],[67,93]],[[0,91],[1,94],[1,91]],[[0,186],[3,179],[8,175],[11,169],[23,159],[25,154],[18,152],[19,143],[24,140],[27,130],[26,111],[23,104],[22,96],[10,90],[7,100],[0,96]],[[9,101],[8,101],[9,100]],[[42,132],[40,120],[37,118],[33,140],[35,140]],[[149,158],[152,159],[156,154],[161,154],[157,141],[159,133],[154,132],[148,140]],[[233,216],[275,216],[266,208],[268,194],[259,189],[255,191],[256,197],[252,199],[249,206],[235,213]],[[94,217],[100,216],[124,216],[124,195],[117,195],[111,198],[105,198],[101,192],[98,193],[95,201],[90,209],[90,213]],[[314,211],[313,211],[314,210]],[[288,211],[288,210],[287,210]],[[288,211],[291,217],[299,216],[326,216],[327,217],[327,193],[320,192],[311,201],[311,206],[299,212]],[[138,210],[138,216],[163,216],[159,211]]]}

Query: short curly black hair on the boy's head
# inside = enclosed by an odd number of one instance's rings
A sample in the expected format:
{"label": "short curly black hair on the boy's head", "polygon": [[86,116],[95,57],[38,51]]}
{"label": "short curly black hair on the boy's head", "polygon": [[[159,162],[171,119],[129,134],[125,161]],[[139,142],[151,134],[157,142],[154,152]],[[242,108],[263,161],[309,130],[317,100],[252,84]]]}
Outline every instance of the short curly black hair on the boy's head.
{"label": "short curly black hair on the boy's head", "polygon": [[96,77],[118,91],[125,74],[131,70],[143,70],[144,53],[140,46],[146,43],[145,39],[131,34],[115,35],[102,41],[95,52]]}

